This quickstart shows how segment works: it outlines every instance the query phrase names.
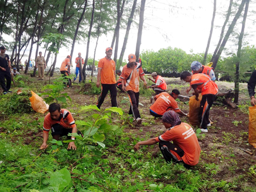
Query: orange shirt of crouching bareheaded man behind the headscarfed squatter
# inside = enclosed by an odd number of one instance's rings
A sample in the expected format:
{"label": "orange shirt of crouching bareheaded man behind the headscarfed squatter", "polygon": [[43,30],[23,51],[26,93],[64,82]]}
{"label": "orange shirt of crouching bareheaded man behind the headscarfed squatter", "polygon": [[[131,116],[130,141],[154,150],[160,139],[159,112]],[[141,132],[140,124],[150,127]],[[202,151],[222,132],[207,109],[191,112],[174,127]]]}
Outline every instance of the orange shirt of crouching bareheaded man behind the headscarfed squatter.
{"label": "orange shirt of crouching bareheaded man behind the headscarfed squatter", "polygon": [[156,95],[157,100],[153,105],[150,106],[150,109],[158,115],[163,115],[166,111],[173,110],[176,113],[181,111],[178,107],[178,103],[175,101],[171,95],[166,92]]}

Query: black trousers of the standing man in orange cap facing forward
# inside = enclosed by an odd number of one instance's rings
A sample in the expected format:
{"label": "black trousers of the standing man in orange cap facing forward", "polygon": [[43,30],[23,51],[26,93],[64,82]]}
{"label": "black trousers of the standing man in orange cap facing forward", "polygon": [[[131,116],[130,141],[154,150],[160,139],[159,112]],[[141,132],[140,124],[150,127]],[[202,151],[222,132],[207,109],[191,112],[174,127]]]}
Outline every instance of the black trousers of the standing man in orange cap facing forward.
{"label": "black trousers of the standing man in orange cap facing forward", "polygon": [[101,108],[101,105],[107,95],[107,93],[110,91],[110,97],[111,97],[111,106],[117,107],[117,87],[116,84],[101,84],[102,90],[101,95],[98,99],[98,108]]}

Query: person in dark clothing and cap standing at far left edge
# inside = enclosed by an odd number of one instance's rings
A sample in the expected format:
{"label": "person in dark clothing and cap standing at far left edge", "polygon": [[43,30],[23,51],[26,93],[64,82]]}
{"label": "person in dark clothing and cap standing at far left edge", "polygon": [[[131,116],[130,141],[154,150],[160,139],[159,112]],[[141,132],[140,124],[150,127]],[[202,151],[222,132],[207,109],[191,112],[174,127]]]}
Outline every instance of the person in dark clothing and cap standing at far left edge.
{"label": "person in dark clothing and cap standing at far left edge", "polygon": [[[0,47],[0,84],[3,89],[3,94],[10,93],[11,88],[11,61],[9,55],[5,54],[6,47]],[[5,84],[6,79],[6,84]]]}

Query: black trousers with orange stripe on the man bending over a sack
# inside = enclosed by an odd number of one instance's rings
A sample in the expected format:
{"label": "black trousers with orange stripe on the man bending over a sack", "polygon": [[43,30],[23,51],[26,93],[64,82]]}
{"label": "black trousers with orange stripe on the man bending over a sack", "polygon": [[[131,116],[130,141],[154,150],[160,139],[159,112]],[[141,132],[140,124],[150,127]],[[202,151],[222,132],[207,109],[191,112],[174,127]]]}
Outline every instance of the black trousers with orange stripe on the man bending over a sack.
{"label": "black trousers with orange stripe on the man bending over a sack", "polygon": [[210,108],[213,105],[214,100],[214,94],[206,94],[202,96],[202,100],[200,102],[200,110],[198,113],[198,120],[200,122],[201,129],[207,129],[207,124],[210,123]]}

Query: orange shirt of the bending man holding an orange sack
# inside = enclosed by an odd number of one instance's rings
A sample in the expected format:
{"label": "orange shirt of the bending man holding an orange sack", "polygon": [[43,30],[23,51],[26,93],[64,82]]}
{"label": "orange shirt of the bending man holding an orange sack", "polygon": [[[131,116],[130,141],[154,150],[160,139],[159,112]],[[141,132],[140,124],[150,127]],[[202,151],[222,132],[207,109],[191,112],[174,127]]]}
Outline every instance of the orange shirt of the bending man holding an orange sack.
{"label": "orange shirt of the bending man holding an orange sack", "polygon": [[197,85],[197,89],[201,90],[202,95],[218,93],[218,86],[215,82],[211,81],[209,75],[198,73],[191,77],[190,85]]}

